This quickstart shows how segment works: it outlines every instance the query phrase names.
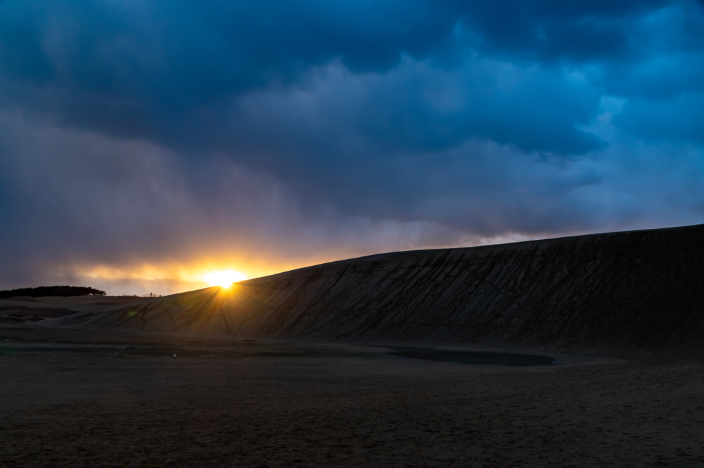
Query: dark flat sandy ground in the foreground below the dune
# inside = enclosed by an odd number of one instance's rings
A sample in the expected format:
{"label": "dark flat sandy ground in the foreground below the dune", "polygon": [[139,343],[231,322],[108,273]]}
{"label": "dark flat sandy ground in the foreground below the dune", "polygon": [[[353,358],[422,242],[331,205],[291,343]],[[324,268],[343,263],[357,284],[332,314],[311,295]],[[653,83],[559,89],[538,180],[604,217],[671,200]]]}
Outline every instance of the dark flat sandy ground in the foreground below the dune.
{"label": "dark flat sandy ground in the foreground below the dune", "polygon": [[477,366],[9,326],[0,340],[2,467],[704,466],[700,358]]}

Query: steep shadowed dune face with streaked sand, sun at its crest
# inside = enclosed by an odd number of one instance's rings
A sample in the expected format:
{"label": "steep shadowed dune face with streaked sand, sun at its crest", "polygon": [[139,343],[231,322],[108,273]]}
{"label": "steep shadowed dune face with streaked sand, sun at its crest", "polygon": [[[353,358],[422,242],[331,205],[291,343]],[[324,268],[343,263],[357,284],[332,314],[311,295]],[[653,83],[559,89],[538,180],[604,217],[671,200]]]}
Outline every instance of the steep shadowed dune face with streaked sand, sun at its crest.
{"label": "steep shadowed dune face with streaked sand, sun at its crest", "polygon": [[700,348],[704,225],[372,255],[47,322],[240,338]]}

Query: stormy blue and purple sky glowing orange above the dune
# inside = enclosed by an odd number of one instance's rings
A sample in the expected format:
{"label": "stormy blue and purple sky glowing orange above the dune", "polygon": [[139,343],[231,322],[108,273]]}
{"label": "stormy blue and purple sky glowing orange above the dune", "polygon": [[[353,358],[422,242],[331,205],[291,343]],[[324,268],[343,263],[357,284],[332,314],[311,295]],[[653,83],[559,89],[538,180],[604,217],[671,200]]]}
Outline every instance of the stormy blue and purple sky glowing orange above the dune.
{"label": "stormy blue and purple sky glowing orange above the dune", "polygon": [[703,1],[0,0],[0,289],[703,222]]}

